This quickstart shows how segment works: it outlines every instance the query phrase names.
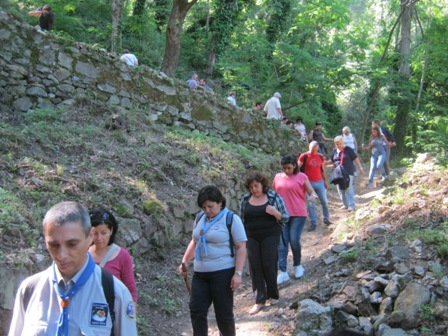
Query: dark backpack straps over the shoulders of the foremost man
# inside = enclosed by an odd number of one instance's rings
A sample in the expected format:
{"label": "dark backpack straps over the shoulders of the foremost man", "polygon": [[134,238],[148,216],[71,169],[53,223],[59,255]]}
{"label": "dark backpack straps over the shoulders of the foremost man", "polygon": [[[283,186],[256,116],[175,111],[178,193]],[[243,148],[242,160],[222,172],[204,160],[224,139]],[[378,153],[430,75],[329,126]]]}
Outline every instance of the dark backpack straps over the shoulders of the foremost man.
{"label": "dark backpack straps over the shoulders of the foremost man", "polygon": [[[32,277],[28,282],[25,292],[23,293],[23,307],[26,310],[30,303],[31,296],[33,295],[34,288],[37,286],[41,278],[38,276]],[[114,323],[115,323],[115,288],[113,275],[101,268],[101,285],[103,287],[104,296],[106,297],[107,304],[109,306],[110,318],[112,320],[111,336],[114,336]]]}

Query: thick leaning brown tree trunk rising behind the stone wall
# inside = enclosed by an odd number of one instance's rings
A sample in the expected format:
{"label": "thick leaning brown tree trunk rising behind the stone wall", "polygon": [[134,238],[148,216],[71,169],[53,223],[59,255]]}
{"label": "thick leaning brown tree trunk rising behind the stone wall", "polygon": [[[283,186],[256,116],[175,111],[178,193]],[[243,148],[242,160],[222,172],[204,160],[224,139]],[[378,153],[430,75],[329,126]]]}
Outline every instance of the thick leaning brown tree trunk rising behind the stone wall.
{"label": "thick leaning brown tree trunk rising behind the stone wall", "polygon": [[170,77],[174,77],[177,65],[179,64],[180,38],[185,17],[190,8],[197,1],[198,0],[174,0],[173,2],[173,9],[166,28],[166,47],[161,68],[161,71]]}

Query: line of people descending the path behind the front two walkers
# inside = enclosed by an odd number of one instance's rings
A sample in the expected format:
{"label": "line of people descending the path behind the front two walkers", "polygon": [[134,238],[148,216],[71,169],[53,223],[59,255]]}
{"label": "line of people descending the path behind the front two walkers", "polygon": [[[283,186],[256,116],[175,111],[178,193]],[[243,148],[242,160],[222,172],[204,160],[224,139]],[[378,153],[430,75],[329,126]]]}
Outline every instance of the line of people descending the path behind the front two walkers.
{"label": "line of people descending the path behind the front two walkers", "polygon": [[[274,95],[273,98],[278,97]],[[314,132],[320,130],[321,124],[316,126]],[[329,140],[323,133],[315,133],[324,141]],[[377,126],[373,126],[369,145],[363,145],[364,148],[372,149],[372,156],[378,156],[372,159],[376,164],[379,160],[385,161],[385,156],[377,154],[380,145],[378,139],[381,139],[384,152],[384,146],[394,144],[382,134]],[[278,286],[290,280],[287,271],[289,246],[293,275],[296,279],[304,276],[301,235],[307,217],[310,220],[308,231],[316,229],[317,199],[322,206],[323,223],[333,224],[326,194],[329,185],[326,174],[328,164],[341,166],[348,174],[348,184],[337,185],[337,189],[341,208],[355,210],[355,171],[364,174],[357,156],[358,145],[349,127],[344,127],[342,135],[336,136],[333,142],[335,148],[329,160],[319,152],[322,147],[317,140],[312,140],[309,151],[298,158],[293,155],[283,156],[282,172],[275,175],[272,183],[260,171],[249,172],[245,179],[248,192],[240,200],[240,216],[226,208],[226,199],[216,186],[201,189],[197,204],[202,211],[193,223],[192,240],[179,266],[180,274],[188,277],[188,265],[194,259],[190,296],[194,335],[208,334],[207,315],[211,304],[220,333],[226,336],[236,334],[233,291],[242,283],[246,255],[255,300],[249,309],[250,315],[257,314],[266,305],[279,303]],[[373,148],[377,148],[375,152]]]}

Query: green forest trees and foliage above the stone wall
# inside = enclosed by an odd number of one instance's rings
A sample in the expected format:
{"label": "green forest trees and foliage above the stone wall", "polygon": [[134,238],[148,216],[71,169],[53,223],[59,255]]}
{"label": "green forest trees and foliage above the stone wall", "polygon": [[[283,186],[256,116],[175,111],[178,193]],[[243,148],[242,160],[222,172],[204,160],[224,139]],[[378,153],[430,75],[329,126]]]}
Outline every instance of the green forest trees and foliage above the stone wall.
{"label": "green forest trees and foliage above the stone wall", "polygon": [[[41,1],[0,1],[37,25],[27,13]],[[380,119],[401,157],[428,151],[448,161],[448,0],[46,4],[56,15],[51,33],[62,38],[129,49],[181,81],[197,73],[216,94],[235,92],[242,107],[279,91],[285,115],[301,116],[308,130],[321,121],[327,136],[348,125],[361,143]]]}

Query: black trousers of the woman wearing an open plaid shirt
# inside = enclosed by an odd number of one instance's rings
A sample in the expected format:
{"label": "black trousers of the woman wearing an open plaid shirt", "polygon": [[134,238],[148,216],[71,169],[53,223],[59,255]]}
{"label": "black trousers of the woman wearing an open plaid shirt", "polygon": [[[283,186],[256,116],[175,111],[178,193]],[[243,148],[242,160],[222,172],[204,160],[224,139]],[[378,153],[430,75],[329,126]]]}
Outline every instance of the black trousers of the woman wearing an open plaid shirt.
{"label": "black trousers of the woman wearing an open plaid shirt", "polygon": [[255,303],[265,303],[267,299],[278,299],[277,261],[280,235],[267,236],[262,240],[248,237],[247,256],[249,259],[252,289],[257,292]]}

